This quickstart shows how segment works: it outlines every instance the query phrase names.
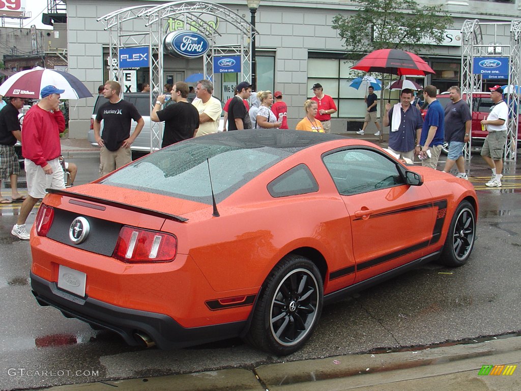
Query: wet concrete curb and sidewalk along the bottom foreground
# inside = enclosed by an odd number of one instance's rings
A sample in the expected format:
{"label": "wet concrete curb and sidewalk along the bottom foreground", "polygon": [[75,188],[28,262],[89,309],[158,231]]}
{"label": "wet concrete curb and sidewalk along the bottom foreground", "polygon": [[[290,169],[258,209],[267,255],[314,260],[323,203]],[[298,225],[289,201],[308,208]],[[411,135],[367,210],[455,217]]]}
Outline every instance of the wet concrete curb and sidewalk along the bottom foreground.
{"label": "wet concrete curb and sidewalk along the bottom foreground", "polygon": [[[345,355],[283,362],[250,369],[224,369],[85,383],[46,388],[52,391],[504,391],[521,389],[521,368],[511,375],[478,375],[483,365],[521,365],[521,337],[477,344],[377,355]],[[499,368],[503,373],[504,369]],[[512,371],[514,369],[514,371]]]}

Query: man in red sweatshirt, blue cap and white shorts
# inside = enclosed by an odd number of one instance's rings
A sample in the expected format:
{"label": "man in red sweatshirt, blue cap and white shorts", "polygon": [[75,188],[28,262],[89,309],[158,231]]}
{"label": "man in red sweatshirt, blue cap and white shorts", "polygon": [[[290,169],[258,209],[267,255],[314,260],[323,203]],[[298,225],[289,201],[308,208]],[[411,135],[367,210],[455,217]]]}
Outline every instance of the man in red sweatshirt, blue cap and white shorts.
{"label": "man in red sweatshirt, blue cap and white shorts", "polygon": [[61,156],[60,133],[65,130],[65,118],[59,109],[60,90],[46,85],[40,91],[42,99],[23,117],[22,154],[25,157],[28,196],[20,207],[18,219],[11,230],[14,236],[28,240],[27,216],[46,189],[65,189]]}

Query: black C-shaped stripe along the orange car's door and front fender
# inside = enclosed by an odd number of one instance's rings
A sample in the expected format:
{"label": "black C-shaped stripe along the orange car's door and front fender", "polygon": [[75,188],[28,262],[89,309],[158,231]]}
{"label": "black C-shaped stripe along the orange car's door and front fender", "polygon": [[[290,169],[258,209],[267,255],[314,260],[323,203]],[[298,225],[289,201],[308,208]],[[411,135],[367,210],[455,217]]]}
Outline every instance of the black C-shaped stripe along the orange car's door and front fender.
{"label": "black C-shaped stripe along the orange car's door and front fender", "polygon": [[[406,248],[404,248],[402,250],[394,251],[394,252],[391,252],[391,253],[386,254],[386,255],[378,256],[377,258],[370,259],[370,260],[365,261],[363,263],[359,263],[359,264],[356,265],[356,270],[364,270],[364,269],[366,269],[368,267],[376,266],[376,265],[378,265],[380,263],[390,261],[391,259],[398,258],[399,256],[405,255],[405,254],[413,252],[413,251],[421,250],[421,249],[423,249],[425,247],[433,245],[434,243],[437,243],[440,240],[441,229],[443,228],[443,223],[445,221],[445,216],[446,216],[446,211],[447,211],[447,209],[446,209],[447,208],[447,200],[440,200],[440,201],[436,201],[436,202],[433,202],[433,203],[416,205],[416,206],[412,206],[412,207],[398,209],[396,211],[389,211],[389,212],[386,212],[386,213],[380,213],[380,214],[376,214],[376,215],[371,215],[370,218],[373,218],[373,217],[385,216],[385,215],[390,215],[390,214],[395,214],[395,213],[409,212],[409,211],[412,211],[412,210],[425,209],[426,207],[435,207],[435,206],[438,207],[438,214],[436,216],[436,222],[435,222],[434,227],[432,229],[432,237],[431,237],[430,240],[427,240],[427,241],[424,241],[424,242],[421,242],[421,243],[417,243],[416,245],[413,245],[413,246],[410,246],[410,247],[406,247]],[[336,270],[334,272],[331,272],[329,274],[329,279],[332,280],[332,279],[344,277],[344,276],[346,276],[348,274],[352,274],[354,272],[355,272],[355,266],[344,267],[344,268],[341,268],[341,269]]]}

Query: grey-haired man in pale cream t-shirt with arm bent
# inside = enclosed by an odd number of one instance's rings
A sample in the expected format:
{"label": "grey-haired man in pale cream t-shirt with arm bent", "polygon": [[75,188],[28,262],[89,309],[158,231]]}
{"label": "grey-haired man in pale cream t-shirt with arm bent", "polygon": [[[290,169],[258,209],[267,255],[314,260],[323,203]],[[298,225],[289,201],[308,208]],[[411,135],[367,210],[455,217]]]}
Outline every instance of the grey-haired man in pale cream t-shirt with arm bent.
{"label": "grey-haired man in pale cream t-shirt with arm bent", "polygon": [[212,96],[214,85],[209,80],[197,82],[195,94],[198,99],[194,99],[192,104],[199,112],[199,129],[195,137],[217,133],[219,128],[219,118],[221,117],[221,102]]}

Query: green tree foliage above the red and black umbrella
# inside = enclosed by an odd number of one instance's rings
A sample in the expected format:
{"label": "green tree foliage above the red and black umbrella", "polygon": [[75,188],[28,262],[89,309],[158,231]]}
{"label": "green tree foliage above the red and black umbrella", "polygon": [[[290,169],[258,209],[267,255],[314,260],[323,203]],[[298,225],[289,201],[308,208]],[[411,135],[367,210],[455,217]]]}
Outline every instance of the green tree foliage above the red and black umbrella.
{"label": "green tree foliage above the red and black umbrella", "polygon": [[421,42],[441,43],[444,29],[453,25],[452,17],[441,5],[419,6],[413,0],[353,2],[359,4],[354,14],[333,19],[333,29],[353,52],[393,48],[425,52],[432,46]]}

